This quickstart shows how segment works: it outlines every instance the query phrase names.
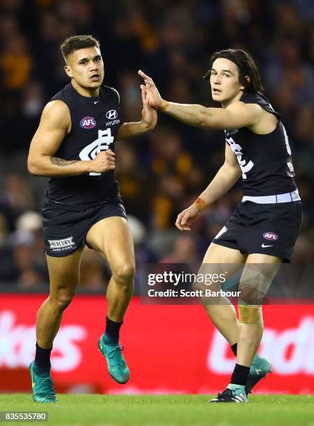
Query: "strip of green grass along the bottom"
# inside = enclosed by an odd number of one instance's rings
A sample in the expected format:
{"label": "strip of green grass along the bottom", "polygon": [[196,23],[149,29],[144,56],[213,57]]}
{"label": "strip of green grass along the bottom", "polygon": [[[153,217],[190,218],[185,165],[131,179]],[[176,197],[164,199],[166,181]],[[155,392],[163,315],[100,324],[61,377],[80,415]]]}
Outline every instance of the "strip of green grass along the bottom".
{"label": "strip of green grass along the bottom", "polygon": [[48,411],[49,425],[314,426],[314,395],[253,395],[249,404],[207,404],[208,399],[207,395],[58,395],[58,404],[35,404],[28,394],[0,394],[0,411]]}

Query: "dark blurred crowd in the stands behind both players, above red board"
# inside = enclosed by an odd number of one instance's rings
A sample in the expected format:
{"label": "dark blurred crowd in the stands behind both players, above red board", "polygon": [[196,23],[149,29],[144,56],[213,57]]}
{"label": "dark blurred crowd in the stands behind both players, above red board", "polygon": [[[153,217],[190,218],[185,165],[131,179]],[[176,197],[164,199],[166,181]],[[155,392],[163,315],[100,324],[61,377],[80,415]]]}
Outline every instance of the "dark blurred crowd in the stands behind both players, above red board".
{"label": "dark blurred crowd in the stands behind both players, above red board", "polygon": [[[0,283],[47,285],[40,212],[47,184],[28,174],[28,146],[49,98],[68,79],[58,45],[92,34],[101,43],[104,84],[119,90],[124,121],[140,120],[139,68],[174,102],[214,106],[201,79],[212,52],[247,49],[286,126],[304,223],[295,261],[314,260],[314,2],[312,0],[1,0]],[[224,134],[159,114],[147,136],[116,143],[117,178],[141,262],[199,262],[241,198],[240,184],[195,223],[176,215],[224,161]],[[272,155],[272,152],[269,152]],[[81,285],[104,290],[108,270],[86,250]]]}

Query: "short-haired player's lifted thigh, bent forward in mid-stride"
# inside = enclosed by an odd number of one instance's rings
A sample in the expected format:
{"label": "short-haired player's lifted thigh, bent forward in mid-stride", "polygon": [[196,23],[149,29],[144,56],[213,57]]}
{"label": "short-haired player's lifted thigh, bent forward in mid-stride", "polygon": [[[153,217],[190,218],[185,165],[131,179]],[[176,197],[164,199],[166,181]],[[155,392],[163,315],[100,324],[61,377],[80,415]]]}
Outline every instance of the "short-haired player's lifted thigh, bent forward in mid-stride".
{"label": "short-haired player's lifted thigh, bent forward in mid-stride", "polygon": [[94,223],[86,235],[86,242],[106,258],[113,274],[134,273],[133,237],[123,217],[107,217]]}

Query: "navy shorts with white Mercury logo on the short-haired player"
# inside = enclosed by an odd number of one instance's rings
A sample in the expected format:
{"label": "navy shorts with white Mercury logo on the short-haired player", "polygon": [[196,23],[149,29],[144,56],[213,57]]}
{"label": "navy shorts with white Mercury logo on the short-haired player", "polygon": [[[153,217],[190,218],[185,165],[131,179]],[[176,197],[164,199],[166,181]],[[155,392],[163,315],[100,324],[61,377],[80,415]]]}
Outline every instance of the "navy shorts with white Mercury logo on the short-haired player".
{"label": "navy shorts with white Mercury logo on the short-haired player", "polygon": [[126,211],[119,196],[104,204],[86,207],[85,210],[45,200],[42,208],[45,252],[56,258],[73,253],[77,248],[85,246],[86,235],[94,223],[112,216],[126,219]]}

